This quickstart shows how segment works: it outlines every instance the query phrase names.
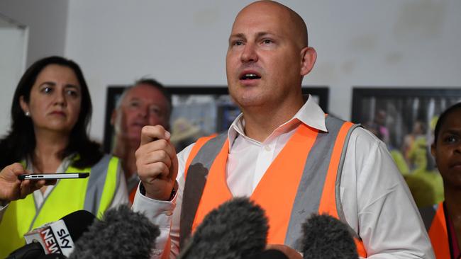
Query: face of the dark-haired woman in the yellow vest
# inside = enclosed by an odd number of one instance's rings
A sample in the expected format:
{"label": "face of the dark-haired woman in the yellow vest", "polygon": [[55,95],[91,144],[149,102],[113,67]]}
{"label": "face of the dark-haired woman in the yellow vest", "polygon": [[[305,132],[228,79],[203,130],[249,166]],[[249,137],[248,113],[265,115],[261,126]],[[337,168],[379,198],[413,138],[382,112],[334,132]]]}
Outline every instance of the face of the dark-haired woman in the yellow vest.
{"label": "face of the dark-haired woman in the yellow vest", "polygon": [[21,108],[30,113],[35,133],[40,130],[70,133],[77,123],[82,91],[74,71],[49,64],[30,89],[29,103],[21,96]]}

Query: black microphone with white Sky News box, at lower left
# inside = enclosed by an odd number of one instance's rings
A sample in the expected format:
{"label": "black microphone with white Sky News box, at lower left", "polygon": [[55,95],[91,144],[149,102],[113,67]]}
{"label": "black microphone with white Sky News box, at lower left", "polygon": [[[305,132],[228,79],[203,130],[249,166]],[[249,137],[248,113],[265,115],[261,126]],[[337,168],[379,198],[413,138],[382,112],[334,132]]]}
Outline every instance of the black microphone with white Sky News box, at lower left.
{"label": "black microphone with white Sky News box, at lower left", "polygon": [[10,253],[8,259],[39,258],[41,255],[70,255],[74,242],[93,223],[95,217],[86,210],[67,214],[26,234],[26,245]]}

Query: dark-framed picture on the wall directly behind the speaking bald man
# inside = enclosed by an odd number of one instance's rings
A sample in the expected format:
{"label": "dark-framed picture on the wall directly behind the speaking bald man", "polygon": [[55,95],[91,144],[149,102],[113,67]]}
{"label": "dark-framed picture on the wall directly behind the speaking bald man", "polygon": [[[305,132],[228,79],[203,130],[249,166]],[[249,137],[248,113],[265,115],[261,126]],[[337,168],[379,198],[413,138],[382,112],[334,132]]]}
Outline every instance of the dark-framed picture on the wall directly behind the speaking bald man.
{"label": "dark-framed picture on the wall directly behind the speaking bald man", "polygon": [[[109,86],[106,95],[106,116],[104,122],[104,151],[110,152],[113,144],[111,114],[116,102],[127,86]],[[172,93],[173,112],[170,117],[172,142],[177,151],[194,142],[198,137],[223,132],[240,114],[230,99],[226,86],[166,86]],[[326,86],[304,87],[304,94],[312,98],[328,112]]]}

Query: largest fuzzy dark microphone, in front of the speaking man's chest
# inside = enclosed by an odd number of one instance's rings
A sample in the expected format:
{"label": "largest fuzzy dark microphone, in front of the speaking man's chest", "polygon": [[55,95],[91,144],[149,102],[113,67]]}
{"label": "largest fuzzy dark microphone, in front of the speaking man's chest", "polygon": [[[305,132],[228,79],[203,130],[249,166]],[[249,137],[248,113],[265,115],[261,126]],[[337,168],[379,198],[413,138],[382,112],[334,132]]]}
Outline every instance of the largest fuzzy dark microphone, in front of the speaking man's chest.
{"label": "largest fuzzy dark microphone, in front of the speaking man's chest", "polygon": [[268,229],[264,210],[238,197],[206,215],[178,258],[235,259],[262,253]]}

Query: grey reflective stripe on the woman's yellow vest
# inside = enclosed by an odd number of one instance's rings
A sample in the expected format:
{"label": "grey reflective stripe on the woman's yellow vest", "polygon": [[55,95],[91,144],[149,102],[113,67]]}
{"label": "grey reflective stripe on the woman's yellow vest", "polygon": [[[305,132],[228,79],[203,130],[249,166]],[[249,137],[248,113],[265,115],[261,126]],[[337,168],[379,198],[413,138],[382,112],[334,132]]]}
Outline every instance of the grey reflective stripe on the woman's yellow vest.
{"label": "grey reflective stripe on the woman's yellow vest", "polygon": [[104,191],[104,184],[106,183],[107,170],[109,170],[111,158],[112,156],[110,155],[104,155],[98,163],[91,167],[91,172],[89,173],[87,194],[85,195],[83,209],[96,216],[99,204],[101,203],[102,192]]}

